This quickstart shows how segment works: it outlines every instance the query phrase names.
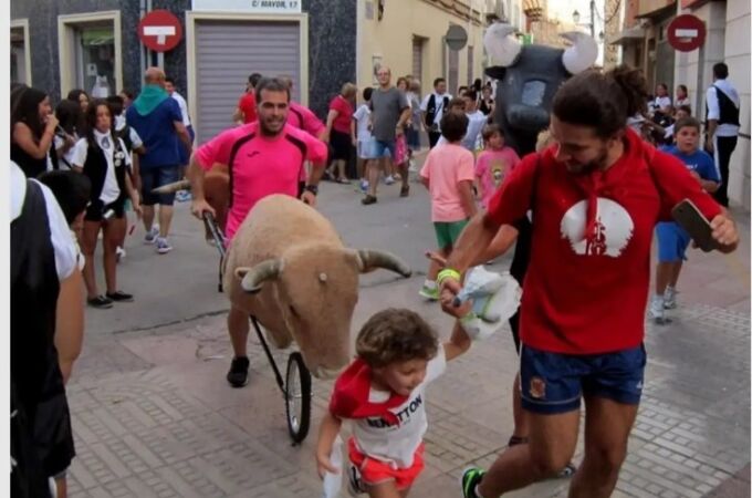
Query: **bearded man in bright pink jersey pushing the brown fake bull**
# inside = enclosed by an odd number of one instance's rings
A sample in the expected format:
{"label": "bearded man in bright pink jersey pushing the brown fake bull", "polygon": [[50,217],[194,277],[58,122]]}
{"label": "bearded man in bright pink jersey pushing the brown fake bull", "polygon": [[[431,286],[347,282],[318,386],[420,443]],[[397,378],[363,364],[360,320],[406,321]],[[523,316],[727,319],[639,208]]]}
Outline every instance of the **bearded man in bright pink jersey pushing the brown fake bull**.
{"label": "bearded man in bright pink jersey pushing the brown fake bull", "polygon": [[[203,193],[205,173],[216,163],[228,165],[231,189],[224,229],[228,240],[263,197],[272,194],[299,196],[299,179],[305,160],[312,162],[314,167],[300,197],[314,206],[326,162],[326,144],[288,123],[290,90],[284,82],[262,79],[255,92],[259,121],[222,132],[199,147],[190,159],[191,210],[199,219],[205,212],[215,215]],[[248,314],[231,307],[227,328],[234,352],[227,380],[233,387],[242,387],[248,383]]]}

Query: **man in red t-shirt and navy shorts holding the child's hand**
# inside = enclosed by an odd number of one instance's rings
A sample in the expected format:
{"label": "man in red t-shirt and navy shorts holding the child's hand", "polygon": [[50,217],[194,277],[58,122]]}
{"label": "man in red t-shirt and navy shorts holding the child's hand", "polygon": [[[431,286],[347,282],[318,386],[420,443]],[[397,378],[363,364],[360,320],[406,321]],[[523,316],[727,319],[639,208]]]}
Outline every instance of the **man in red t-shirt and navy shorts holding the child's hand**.
{"label": "man in red t-shirt and navy shorts holding the child's hand", "polygon": [[468,469],[466,498],[494,498],[556,475],[574,454],[583,397],[585,456],[570,496],[610,496],[643,390],[656,222],[689,198],[711,220],[720,251],[738,245],[734,222],[687,168],[626,127],[646,93],[644,80],[633,86],[633,71],[587,71],[558,90],[550,128],[556,144],[506,177],[439,273],[442,305],[451,307],[460,273],[502,225],[532,210],[520,354],[530,443],[508,448],[485,473]]}

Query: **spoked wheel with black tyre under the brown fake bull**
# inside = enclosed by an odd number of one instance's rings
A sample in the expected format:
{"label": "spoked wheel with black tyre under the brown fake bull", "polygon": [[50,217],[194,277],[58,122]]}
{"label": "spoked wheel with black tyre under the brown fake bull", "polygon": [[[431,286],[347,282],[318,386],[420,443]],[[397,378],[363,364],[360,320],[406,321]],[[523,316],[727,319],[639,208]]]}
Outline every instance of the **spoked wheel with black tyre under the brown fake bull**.
{"label": "spoked wheel with black tyre under the brown fake bull", "polygon": [[311,424],[311,373],[297,352],[291,353],[288,359],[284,386],[288,430],[294,443],[301,443],[307,436]]}

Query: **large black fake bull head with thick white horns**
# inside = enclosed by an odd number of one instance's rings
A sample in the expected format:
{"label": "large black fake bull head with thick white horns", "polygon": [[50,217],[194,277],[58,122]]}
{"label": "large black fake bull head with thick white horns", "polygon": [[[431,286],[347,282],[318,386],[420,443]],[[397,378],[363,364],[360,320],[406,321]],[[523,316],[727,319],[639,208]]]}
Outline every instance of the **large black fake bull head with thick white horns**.
{"label": "large black fake bull head with thick white horns", "polygon": [[554,94],[573,74],[591,68],[598,55],[592,37],[567,32],[561,37],[572,45],[555,49],[522,45],[510,37],[514,28],[494,23],[483,44],[491,63],[485,74],[499,81],[494,122],[502,128],[506,145],[523,155],[535,149],[537,133],[549,126]]}

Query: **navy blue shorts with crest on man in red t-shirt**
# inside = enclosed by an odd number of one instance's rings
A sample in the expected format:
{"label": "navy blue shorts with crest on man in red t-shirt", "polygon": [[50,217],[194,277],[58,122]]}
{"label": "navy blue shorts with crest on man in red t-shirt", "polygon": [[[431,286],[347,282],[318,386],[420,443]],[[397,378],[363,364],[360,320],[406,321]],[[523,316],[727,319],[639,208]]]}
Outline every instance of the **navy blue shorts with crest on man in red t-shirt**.
{"label": "navy blue shorts with crest on man in red t-shirt", "polygon": [[645,346],[605,354],[550,353],[522,344],[522,407],[540,414],[579,409],[583,395],[639,404],[647,354]]}

